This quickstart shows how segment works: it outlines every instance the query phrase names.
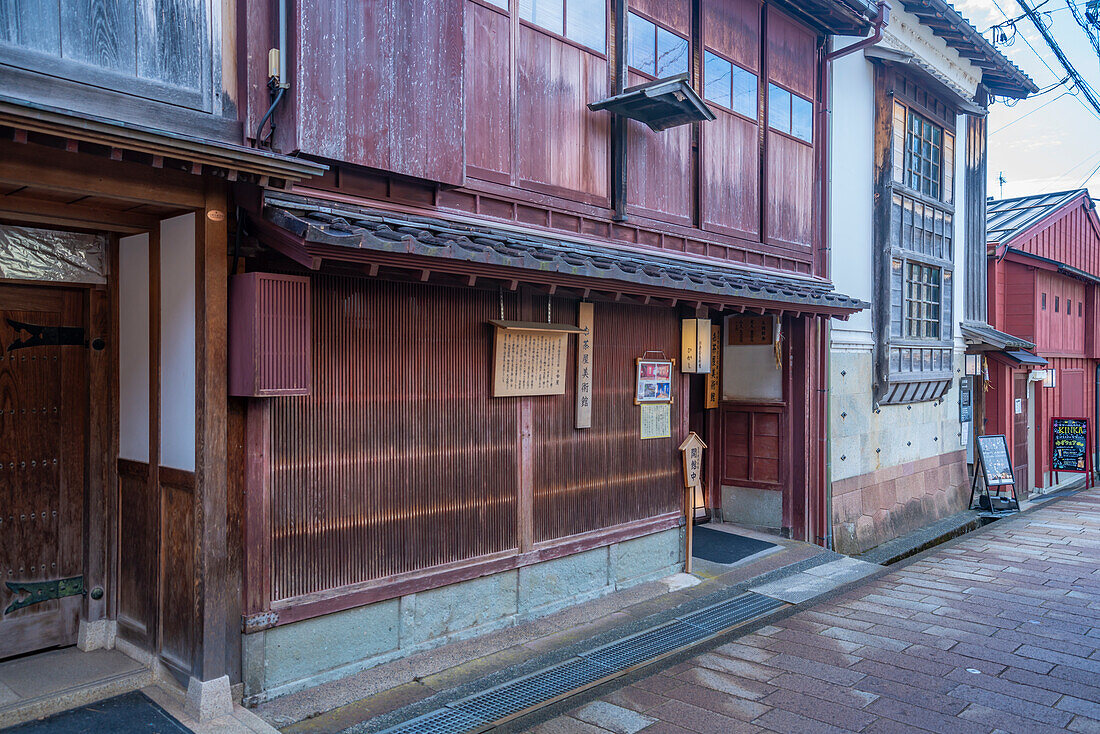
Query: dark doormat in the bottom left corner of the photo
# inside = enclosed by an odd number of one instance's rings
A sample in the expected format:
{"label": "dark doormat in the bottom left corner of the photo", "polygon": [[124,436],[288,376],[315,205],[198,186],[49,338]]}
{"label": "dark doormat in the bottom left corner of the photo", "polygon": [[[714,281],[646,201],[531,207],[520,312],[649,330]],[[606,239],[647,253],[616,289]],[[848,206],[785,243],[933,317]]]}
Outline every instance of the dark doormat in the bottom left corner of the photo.
{"label": "dark doormat in the bottom left corner of the photo", "polygon": [[141,691],[63,711],[40,721],[0,728],[2,734],[190,734]]}

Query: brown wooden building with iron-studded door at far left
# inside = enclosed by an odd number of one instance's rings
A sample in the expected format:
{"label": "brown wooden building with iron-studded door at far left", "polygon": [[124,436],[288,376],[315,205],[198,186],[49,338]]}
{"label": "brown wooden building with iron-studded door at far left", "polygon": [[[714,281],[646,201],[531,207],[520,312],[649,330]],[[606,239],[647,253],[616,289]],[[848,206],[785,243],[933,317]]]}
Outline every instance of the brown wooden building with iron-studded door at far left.
{"label": "brown wooden building with iron-studded door at far left", "polygon": [[[211,716],[241,679],[232,197],[323,166],[244,145],[220,6],[0,10],[0,660],[67,681],[0,725],[158,676]],[[101,648],[141,665],[70,657]]]}

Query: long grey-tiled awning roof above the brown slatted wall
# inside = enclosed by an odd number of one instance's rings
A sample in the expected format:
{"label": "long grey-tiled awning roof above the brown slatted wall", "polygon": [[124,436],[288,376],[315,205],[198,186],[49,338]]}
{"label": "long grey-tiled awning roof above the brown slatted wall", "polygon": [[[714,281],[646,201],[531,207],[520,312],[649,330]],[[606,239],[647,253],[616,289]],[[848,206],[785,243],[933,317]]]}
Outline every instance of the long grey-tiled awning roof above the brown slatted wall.
{"label": "long grey-tiled awning roof above the brown slatted wall", "polygon": [[323,261],[363,263],[367,272],[457,273],[471,283],[487,277],[840,318],[869,306],[816,277],[284,194],[268,194],[253,223],[261,242],[314,270]]}

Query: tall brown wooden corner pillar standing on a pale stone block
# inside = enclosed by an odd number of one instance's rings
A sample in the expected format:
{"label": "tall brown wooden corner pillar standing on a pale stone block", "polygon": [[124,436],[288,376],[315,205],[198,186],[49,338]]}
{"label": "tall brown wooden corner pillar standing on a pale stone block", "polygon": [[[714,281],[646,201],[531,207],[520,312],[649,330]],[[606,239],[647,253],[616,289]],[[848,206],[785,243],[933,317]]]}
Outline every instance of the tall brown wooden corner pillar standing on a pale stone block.
{"label": "tall brown wooden corner pillar standing on a pale stone block", "polygon": [[228,657],[227,191],[208,178],[196,221],[195,570],[196,614],[188,708],[200,719],[232,710]]}

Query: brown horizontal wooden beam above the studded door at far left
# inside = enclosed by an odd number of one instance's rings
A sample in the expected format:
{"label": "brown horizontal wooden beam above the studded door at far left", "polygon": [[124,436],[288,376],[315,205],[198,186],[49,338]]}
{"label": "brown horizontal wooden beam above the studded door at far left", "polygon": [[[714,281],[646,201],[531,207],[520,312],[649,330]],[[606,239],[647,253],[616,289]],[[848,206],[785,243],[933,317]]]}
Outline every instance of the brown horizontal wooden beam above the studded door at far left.
{"label": "brown horizontal wooden beam above the studded door at far left", "polygon": [[0,184],[135,204],[190,209],[205,205],[198,180],[188,174],[155,171],[139,163],[66,153],[43,145],[0,142]]}

